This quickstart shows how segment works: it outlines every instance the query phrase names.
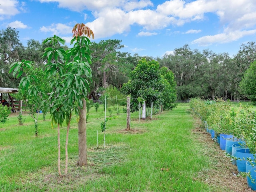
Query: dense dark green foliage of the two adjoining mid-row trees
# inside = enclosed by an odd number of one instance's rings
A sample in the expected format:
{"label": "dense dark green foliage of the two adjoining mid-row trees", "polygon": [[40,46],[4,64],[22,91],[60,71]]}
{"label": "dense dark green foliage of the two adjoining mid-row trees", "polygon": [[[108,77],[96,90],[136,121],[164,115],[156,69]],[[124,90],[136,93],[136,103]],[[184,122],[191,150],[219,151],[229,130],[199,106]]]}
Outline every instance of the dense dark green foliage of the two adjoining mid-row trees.
{"label": "dense dark green foliage of the two adjoining mid-row trees", "polygon": [[[165,75],[161,75],[161,72]],[[140,60],[131,72],[130,78],[131,80],[124,84],[121,90],[125,94],[131,95],[132,112],[138,110],[137,98],[145,100],[147,107],[151,107],[151,102],[154,106],[163,104],[166,110],[176,106],[174,104],[176,100],[174,75],[171,71],[167,72],[167,68],[159,70],[158,62]]]}

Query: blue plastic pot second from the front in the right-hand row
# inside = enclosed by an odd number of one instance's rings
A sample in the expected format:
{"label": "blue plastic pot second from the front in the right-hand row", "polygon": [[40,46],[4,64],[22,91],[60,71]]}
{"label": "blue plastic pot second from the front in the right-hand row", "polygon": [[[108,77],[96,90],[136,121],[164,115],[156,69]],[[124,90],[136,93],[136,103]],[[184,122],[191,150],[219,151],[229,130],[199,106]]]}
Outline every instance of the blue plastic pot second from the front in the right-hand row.
{"label": "blue plastic pot second from the front in the right-hand row", "polygon": [[254,159],[254,154],[250,153],[248,148],[238,149],[236,150],[236,166],[238,172],[246,172],[246,162],[248,161],[247,158]]}

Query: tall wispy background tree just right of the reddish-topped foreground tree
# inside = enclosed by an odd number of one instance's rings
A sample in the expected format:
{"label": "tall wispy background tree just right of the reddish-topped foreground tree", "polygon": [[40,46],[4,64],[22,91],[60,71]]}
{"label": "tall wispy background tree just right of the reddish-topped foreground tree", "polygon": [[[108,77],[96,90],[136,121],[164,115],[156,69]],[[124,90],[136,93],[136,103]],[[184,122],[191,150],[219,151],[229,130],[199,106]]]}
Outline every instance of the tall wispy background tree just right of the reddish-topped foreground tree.
{"label": "tall wispy background tree just right of the reddish-topped foreground tree", "polygon": [[134,58],[128,53],[118,50],[123,48],[121,40],[101,40],[92,42],[92,73],[91,89],[106,88],[108,85],[120,87],[128,81],[128,74],[134,68]]}

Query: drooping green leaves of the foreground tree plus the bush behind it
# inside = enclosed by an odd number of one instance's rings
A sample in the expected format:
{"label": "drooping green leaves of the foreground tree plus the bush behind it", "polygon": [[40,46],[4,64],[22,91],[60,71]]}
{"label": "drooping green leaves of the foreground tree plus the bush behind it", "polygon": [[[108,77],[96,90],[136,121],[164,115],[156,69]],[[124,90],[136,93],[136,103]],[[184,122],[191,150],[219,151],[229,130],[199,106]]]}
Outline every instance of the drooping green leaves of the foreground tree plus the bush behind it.
{"label": "drooping green leaves of the foreground tree plus the bush behind it", "polygon": [[[9,73],[18,78],[25,72],[20,81],[20,88],[27,100],[36,104],[34,108],[44,109],[50,107],[52,123],[64,122],[67,114],[73,109],[76,115],[83,106],[83,99],[87,98],[89,84],[91,82],[91,58],[90,40],[85,36],[78,36],[72,42],[74,47],[65,51],[59,44],[64,40],[56,35],[46,38],[43,44],[52,46],[45,48],[43,57],[47,58],[44,76],[36,76],[37,73],[28,73],[32,68],[32,61],[14,62],[10,66]],[[49,94],[50,93],[50,94]],[[31,110],[34,112],[34,110]],[[37,126],[37,121],[35,121]]]}

